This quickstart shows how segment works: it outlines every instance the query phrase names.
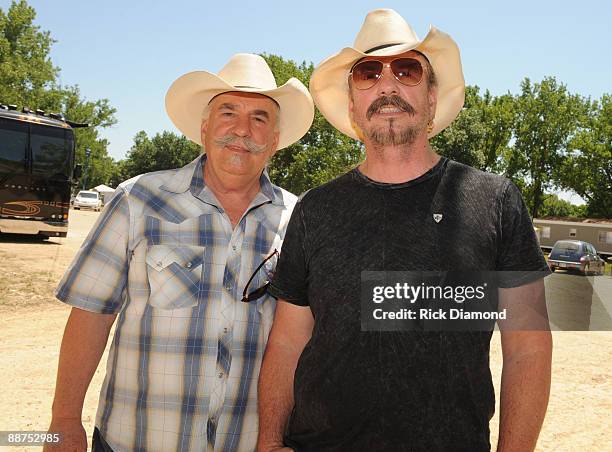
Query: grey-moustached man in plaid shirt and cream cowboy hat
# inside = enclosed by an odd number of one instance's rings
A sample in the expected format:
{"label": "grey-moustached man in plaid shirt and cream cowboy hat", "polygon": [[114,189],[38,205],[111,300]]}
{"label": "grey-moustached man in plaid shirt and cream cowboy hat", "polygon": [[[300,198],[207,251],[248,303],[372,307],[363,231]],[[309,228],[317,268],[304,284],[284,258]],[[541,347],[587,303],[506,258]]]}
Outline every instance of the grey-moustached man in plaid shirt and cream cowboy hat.
{"label": "grey-moustached man in plaid shirt and cream cowboy hat", "polygon": [[296,202],[265,166],[306,133],[312,98],[237,54],[179,77],[166,110],[205,154],[122,183],[64,275],[57,450],[86,450],[83,399],[115,318],[93,450],[255,449],[265,289]]}

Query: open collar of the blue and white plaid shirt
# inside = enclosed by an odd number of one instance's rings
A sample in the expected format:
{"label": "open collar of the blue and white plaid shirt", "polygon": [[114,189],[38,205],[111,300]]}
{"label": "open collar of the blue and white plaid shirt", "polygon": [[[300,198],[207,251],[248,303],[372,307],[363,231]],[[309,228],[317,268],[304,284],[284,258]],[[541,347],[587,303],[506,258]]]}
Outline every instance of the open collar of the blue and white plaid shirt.
{"label": "open collar of the blue and white plaid shirt", "polygon": [[[215,198],[215,196],[207,189],[206,183],[204,182],[204,172],[202,170],[206,164],[206,160],[206,154],[198,156],[192,162],[176,170],[171,179],[162,184],[160,188],[172,193],[185,193],[189,190],[194,196],[206,202],[214,201],[213,204],[217,204],[216,199],[208,199]],[[270,180],[267,168],[262,171],[259,177],[259,185],[260,190],[256,198],[260,198],[263,195],[263,197],[271,201],[272,204],[279,206],[285,205],[283,197],[275,190],[275,186]]]}

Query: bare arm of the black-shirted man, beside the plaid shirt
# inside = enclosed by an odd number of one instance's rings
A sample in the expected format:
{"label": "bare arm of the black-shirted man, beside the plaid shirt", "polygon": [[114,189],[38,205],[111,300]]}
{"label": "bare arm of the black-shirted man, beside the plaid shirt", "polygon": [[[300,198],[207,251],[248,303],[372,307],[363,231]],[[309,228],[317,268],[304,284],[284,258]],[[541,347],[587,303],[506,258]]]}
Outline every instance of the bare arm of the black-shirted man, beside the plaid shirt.
{"label": "bare arm of the black-shirted man, beside the plaid shirt", "polygon": [[283,433],[293,408],[295,368],[312,335],[313,325],[309,307],[278,300],[259,374],[257,450],[260,452],[283,450]]}

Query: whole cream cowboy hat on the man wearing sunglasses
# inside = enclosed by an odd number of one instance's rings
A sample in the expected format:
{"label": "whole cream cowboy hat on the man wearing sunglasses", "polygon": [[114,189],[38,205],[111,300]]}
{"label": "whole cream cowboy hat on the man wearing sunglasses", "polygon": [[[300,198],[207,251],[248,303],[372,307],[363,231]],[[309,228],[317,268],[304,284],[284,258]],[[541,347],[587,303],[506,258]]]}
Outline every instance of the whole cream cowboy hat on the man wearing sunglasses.
{"label": "whole cream cowboy hat on the man wearing sunglasses", "polygon": [[348,76],[366,56],[390,56],[416,50],[427,57],[438,80],[438,103],[431,138],[457,117],[465,97],[459,48],[435,27],[419,41],[412,27],[392,9],[376,9],[365,18],[353,47],[323,60],[310,78],[310,93],[325,118],[342,133],[360,139],[349,115]]}

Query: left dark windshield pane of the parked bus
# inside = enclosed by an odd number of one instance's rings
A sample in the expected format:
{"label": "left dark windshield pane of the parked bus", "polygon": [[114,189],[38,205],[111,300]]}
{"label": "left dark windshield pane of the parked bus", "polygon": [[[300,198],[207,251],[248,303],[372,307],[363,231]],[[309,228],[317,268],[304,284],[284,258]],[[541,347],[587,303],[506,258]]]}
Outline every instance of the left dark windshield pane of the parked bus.
{"label": "left dark windshield pane of the parked bus", "polygon": [[28,125],[0,118],[0,172],[23,173],[27,145]]}

